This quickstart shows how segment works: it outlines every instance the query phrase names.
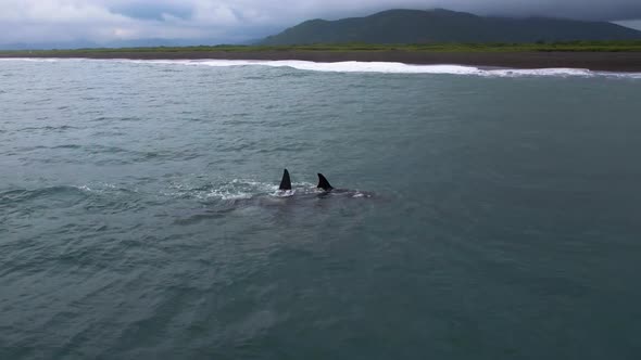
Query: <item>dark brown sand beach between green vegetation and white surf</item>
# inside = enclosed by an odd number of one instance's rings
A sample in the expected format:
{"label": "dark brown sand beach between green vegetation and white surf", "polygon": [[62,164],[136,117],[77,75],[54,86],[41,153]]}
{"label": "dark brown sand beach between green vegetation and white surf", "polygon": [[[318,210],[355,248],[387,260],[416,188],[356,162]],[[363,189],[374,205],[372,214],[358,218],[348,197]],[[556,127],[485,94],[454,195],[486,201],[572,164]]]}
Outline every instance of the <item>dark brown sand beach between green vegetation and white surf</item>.
{"label": "dark brown sand beach between green vegetation and white surf", "polygon": [[128,59],[128,60],[301,60],[394,62],[413,65],[464,65],[505,68],[586,68],[598,72],[641,73],[641,52],[429,52],[429,51],[13,51],[0,59]]}

